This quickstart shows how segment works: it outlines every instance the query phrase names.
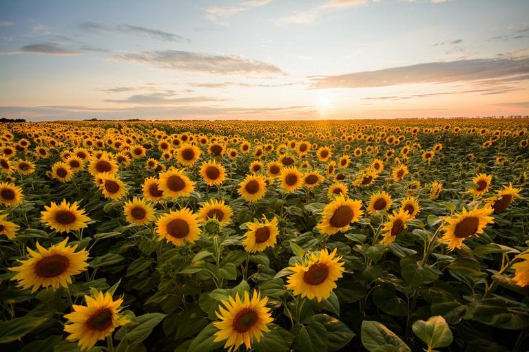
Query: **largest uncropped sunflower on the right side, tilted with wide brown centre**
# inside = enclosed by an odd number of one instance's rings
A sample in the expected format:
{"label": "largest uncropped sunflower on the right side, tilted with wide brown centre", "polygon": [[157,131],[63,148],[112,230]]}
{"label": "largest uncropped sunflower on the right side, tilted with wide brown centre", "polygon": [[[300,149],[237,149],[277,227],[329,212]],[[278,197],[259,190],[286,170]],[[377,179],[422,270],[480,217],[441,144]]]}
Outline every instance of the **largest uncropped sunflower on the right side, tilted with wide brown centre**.
{"label": "largest uncropped sunflower on the right side, tilted with wide brown centre", "polygon": [[485,226],[494,222],[494,218],[490,216],[492,212],[494,210],[490,207],[470,211],[463,209],[461,214],[455,214],[455,217],[446,219],[448,224],[443,226],[444,235],[439,242],[446,243],[448,250],[461,248],[464,239],[482,234]]}

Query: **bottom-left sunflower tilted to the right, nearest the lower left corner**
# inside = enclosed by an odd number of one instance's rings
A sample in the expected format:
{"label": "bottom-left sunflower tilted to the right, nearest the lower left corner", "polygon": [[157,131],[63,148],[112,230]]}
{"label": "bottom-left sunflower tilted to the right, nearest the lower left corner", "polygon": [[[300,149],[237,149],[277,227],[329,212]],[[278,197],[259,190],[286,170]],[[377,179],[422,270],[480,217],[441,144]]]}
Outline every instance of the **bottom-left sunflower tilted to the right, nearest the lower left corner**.
{"label": "bottom-left sunflower tilted to the right, nearest the lower left corner", "polygon": [[73,305],[74,311],[64,316],[70,323],[64,326],[64,331],[70,333],[66,340],[79,340],[81,351],[90,349],[98,340],[112,335],[116,327],[130,322],[119,313],[123,298],[113,300],[110,292],[99,291],[96,297],[85,296],[85,301],[86,305]]}

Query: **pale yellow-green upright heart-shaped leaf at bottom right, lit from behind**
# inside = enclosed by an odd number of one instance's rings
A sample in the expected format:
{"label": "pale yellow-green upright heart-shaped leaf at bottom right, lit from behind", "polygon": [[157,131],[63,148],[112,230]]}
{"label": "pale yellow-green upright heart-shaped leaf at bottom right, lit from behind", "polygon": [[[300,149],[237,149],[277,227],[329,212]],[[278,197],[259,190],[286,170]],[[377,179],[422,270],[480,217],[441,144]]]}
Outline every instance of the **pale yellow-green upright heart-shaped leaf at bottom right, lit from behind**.
{"label": "pale yellow-green upright heart-shaped leaf at bottom right, lit from behind", "polygon": [[452,344],[452,331],[442,316],[433,316],[426,321],[417,320],[412,329],[413,333],[426,343],[428,351]]}

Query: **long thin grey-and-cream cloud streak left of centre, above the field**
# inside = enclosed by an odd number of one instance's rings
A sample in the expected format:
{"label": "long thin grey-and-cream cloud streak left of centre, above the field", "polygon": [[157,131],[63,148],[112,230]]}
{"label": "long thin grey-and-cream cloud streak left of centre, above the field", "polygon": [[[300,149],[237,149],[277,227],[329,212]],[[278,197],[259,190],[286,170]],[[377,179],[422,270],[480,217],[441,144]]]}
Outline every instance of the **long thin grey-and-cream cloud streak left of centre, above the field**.
{"label": "long thin grey-and-cream cloud streak left of centre, above the field", "polygon": [[280,68],[274,65],[235,55],[164,50],[142,52],[140,54],[116,55],[111,59],[129,63],[154,65],[163,69],[176,69],[185,72],[203,72],[222,75],[285,75]]}

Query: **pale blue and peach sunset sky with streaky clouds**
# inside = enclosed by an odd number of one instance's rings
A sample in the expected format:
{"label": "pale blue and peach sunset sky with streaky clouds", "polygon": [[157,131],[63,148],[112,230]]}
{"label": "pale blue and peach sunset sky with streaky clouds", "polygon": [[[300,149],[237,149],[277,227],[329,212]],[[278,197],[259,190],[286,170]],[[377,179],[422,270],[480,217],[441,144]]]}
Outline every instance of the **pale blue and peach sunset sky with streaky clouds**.
{"label": "pale blue and peach sunset sky with streaky clouds", "polygon": [[0,117],[529,115],[527,0],[0,0]]}

